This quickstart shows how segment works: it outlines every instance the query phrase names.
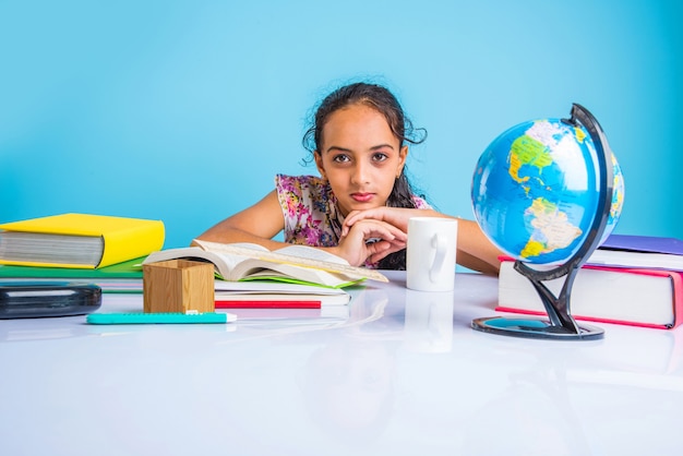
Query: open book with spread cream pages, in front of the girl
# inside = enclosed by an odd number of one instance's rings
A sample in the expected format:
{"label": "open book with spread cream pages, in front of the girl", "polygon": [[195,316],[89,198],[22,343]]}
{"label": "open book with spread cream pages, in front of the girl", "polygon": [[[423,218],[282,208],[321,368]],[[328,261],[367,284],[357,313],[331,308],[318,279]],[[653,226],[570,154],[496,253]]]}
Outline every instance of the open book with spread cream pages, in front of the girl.
{"label": "open book with spread cream pages, in front of the girl", "polygon": [[254,243],[193,241],[197,247],[167,249],[149,254],[143,264],[168,260],[199,260],[214,264],[219,278],[280,280],[343,288],[366,279],[388,281],[378,271],[351,266],[336,255],[308,245],[287,245],[276,251]]}

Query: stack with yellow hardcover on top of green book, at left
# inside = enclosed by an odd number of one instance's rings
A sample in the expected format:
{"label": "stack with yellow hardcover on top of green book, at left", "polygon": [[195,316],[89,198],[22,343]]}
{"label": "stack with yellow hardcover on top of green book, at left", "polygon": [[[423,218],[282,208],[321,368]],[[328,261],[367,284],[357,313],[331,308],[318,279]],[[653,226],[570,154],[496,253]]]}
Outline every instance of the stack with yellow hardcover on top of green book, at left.
{"label": "stack with yellow hardcover on top of green book, at left", "polygon": [[0,225],[0,280],[87,281],[142,292],[142,262],[164,247],[161,220],[59,214]]}

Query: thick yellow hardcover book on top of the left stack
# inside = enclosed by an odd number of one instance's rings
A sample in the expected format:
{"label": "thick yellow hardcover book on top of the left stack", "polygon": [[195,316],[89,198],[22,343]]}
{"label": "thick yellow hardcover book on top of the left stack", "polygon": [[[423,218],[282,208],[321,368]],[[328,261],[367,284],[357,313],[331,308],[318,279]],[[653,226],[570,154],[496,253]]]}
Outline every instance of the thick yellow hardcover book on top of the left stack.
{"label": "thick yellow hardcover book on top of the left stack", "polygon": [[0,225],[0,264],[97,268],[164,247],[161,220],[60,214]]}

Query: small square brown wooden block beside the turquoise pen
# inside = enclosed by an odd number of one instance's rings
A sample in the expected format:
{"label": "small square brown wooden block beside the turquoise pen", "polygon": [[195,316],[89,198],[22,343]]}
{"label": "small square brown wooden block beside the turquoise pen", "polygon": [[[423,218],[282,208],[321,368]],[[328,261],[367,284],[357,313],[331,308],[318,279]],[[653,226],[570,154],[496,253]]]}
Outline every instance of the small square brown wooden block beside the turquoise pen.
{"label": "small square brown wooden block beside the turquoise pen", "polygon": [[214,312],[214,265],[170,260],[142,266],[145,313]]}

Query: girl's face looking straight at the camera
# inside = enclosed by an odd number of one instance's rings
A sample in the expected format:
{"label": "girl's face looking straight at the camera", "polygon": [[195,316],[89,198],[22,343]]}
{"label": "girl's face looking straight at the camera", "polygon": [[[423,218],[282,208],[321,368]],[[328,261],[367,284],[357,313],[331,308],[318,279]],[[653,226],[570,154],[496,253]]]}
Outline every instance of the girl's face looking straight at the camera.
{"label": "girl's face looking straight at the camera", "polygon": [[407,155],[408,146],[400,146],[384,116],[366,105],[333,112],[314,154],[344,216],[384,206]]}

